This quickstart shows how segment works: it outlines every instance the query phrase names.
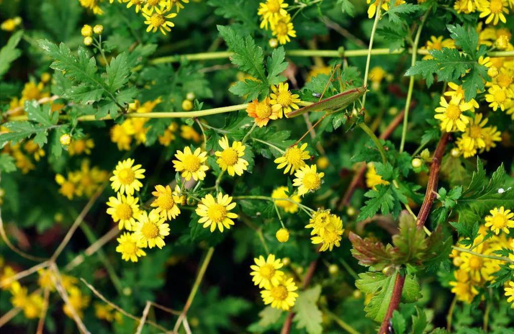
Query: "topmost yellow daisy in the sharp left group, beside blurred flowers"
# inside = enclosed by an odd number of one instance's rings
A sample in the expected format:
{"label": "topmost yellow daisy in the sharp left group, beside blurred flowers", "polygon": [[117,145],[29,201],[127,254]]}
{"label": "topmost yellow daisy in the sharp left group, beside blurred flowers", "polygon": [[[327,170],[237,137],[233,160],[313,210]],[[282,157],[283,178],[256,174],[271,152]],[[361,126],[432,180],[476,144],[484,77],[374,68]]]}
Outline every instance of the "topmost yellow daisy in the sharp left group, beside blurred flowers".
{"label": "topmost yellow daisy in the sharp left group, beside blurred flowers", "polygon": [[112,181],[112,188],[114,191],[120,191],[121,194],[134,195],[134,190],[139,191],[143,186],[138,179],[144,179],[144,169],[141,165],[134,165],[134,159],[126,159],[118,162],[116,169],[113,171],[113,176],[109,181]]}

